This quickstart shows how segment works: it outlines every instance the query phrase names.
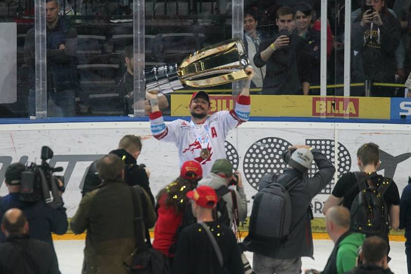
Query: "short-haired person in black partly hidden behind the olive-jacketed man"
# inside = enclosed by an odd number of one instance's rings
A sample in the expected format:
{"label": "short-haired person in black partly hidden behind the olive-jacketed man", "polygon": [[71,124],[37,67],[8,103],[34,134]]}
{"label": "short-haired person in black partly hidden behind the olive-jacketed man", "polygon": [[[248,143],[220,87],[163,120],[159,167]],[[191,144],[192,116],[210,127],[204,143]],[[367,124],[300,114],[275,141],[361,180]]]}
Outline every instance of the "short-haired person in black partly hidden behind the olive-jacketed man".
{"label": "short-haired person in black partly hidden behind the olive-jacketed man", "polygon": [[[125,164],[124,181],[130,186],[141,186],[145,192],[147,192],[154,206],[154,196],[150,189],[150,183],[148,182],[150,171],[143,164],[137,165],[137,158],[141,153],[141,148],[142,143],[140,136],[124,135],[119,142],[118,149],[110,151],[110,154],[116,154]],[[101,184],[96,163],[97,161],[93,162],[87,172],[82,191],[83,196]]]}

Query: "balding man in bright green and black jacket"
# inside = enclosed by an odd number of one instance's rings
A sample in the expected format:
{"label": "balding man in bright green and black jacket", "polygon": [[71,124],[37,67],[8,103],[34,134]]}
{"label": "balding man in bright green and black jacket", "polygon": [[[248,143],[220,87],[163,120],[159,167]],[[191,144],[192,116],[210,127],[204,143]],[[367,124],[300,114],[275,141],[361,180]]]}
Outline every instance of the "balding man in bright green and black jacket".
{"label": "balding man in bright green and black jacket", "polygon": [[[362,233],[350,232],[351,216],[347,208],[333,206],[327,210],[326,229],[334,242],[327,264],[322,274],[343,274],[356,267],[357,250],[365,240]],[[306,273],[320,273],[316,270]]]}

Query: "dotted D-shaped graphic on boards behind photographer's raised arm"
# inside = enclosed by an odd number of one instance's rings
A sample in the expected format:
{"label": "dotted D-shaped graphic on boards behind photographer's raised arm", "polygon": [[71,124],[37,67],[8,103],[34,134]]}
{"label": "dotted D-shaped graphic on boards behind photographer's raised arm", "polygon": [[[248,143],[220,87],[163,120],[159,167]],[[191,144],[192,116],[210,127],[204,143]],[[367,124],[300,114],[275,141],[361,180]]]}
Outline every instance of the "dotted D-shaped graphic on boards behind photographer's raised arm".
{"label": "dotted D-shaped graphic on boards behind photographer's raised arm", "polygon": [[[318,140],[318,139],[306,139],[306,145],[315,147],[316,149],[320,150],[325,156],[327,157],[328,160],[331,161],[331,163],[334,164],[334,158],[335,158],[335,153],[334,153],[334,140]],[[337,145],[337,150],[338,150],[338,168],[337,168],[337,178],[340,178],[344,173],[347,173],[351,169],[351,156],[350,153],[348,152],[347,148],[341,144],[338,143]],[[313,163],[311,165],[311,169],[308,171],[308,174],[310,177],[312,177],[316,172],[318,172],[318,168]],[[331,180],[327,186],[321,190],[319,194],[331,194],[331,190],[334,186],[334,178]]]}

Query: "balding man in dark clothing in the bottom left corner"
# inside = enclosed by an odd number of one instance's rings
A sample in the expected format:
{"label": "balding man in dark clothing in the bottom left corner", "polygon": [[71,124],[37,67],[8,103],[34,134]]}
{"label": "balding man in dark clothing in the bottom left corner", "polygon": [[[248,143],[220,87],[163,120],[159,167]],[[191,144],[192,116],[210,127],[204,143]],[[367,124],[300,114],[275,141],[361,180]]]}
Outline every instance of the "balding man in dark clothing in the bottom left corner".
{"label": "balding man in dark clothing in the bottom left corner", "polygon": [[0,244],[0,273],[60,274],[53,248],[29,237],[29,224],[20,209],[6,211],[2,231],[7,241]]}

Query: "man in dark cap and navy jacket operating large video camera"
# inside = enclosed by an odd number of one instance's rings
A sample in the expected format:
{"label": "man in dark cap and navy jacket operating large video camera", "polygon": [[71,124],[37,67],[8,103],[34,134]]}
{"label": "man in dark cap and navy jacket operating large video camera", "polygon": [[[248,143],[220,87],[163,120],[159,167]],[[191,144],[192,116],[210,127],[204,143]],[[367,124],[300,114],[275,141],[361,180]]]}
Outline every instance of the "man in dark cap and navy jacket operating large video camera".
{"label": "man in dark cap and navy jacket operating large video camera", "polygon": [[[30,231],[29,236],[33,239],[45,241],[51,245],[54,250],[51,232],[64,234],[67,231],[68,222],[66,208],[64,203],[57,209],[49,207],[44,199],[35,202],[24,202],[20,200],[22,172],[26,170],[25,165],[21,163],[11,164],[6,169],[5,182],[9,189],[9,194],[0,198],[0,219],[5,212],[11,208],[21,209],[27,217]],[[60,189],[63,188],[63,182],[59,180]],[[61,196],[62,191],[59,191]],[[5,242],[6,237],[0,232],[0,242]]]}

